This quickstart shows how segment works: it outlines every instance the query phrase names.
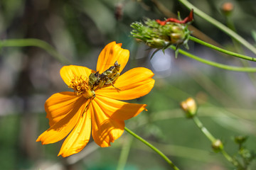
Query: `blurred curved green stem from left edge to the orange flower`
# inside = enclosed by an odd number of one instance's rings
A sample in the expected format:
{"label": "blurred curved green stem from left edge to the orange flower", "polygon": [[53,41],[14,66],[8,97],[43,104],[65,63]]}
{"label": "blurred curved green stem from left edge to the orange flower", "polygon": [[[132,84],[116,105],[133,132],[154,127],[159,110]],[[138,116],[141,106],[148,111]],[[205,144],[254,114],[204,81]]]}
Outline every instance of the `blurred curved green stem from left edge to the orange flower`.
{"label": "blurred curved green stem from left edge to the orange flower", "polygon": [[63,64],[70,64],[70,62],[63,56],[60,55],[51,45],[43,40],[38,40],[35,38],[28,39],[13,39],[13,40],[0,40],[0,49],[1,47],[41,47],[43,50],[46,50],[50,55],[55,57],[56,60],[60,61]]}

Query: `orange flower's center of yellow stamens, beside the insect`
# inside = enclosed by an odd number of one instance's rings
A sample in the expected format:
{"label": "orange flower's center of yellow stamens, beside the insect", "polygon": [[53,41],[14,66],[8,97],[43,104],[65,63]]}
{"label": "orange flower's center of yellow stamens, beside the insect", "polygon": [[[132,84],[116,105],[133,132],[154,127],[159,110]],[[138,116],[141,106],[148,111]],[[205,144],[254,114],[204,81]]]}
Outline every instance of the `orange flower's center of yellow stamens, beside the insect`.
{"label": "orange flower's center of yellow stamens, beside the insect", "polygon": [[92,91],[90,89],[90,86],[88,84],[88,79],[82,78],[82,76],[77,77],[74,76],[74,78],[71,80],[69,88],[73,89],[75,92],[75,95],[77,96],[84,96],[85,98],[92,98],[95,96],[95,91]]}

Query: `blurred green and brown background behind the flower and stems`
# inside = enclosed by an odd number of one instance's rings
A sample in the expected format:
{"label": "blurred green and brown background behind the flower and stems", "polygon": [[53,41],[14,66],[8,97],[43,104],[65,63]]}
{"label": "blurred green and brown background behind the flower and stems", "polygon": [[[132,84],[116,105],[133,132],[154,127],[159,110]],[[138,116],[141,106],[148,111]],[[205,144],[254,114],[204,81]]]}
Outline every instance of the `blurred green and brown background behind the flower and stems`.
{"label": "blurred green and brown background behind the flower and stems", "polygon": [[[192,4],[222,23],[221,6],[226,1],[191,0]],[[233,0],[231,21],[238,34],[255,45],[255,0]],[[196,98],[198,116],[225,149],[236,154],[235,135],[248,135],[248,149],[256,142],[255,74],[230,72],[201,64],[174,51],[165,55],[136,42],[129,25],[147,18],[185,18],[189,10],[174,0],[1,0],[0,38],[38,38],[48,42],[71,64],[96,68],[97,56],[112,41],[130,50],[125,68],[147,67],[155,73],[156,84],[150,94],[131,101],[146,103],[143,112],[126,125],[163,151],[180,169],[233,169],[223,155],[210,148],[210,142],[192,120],[183,115],[179,103]],[[254,57],[222,31],[195,16],[193,34],[231,51]],[[0,42],[2,43],[2,42]],[[189,52],[207,60],[242,66],[234,57],[188,42]],[[1,47],[0,44],[0,169],[170,169],[159,155],[124,132],[112,147],[100,148],[93,140],[79,154],[57,157],[61,143],[41,145],[38,135],[48,129],[44,103],[60,91],[68,91],[59,75],[65,63],[38,47]],[[255,63],[250,63],[256,67]],[[129,152],[129,153],[128,153]],[[127,153],[127,163],[119,157]],[[125,159],[123,159],[125,162]],[[256,169],[253,162],[251,169]],[[119,165],[119,166],[118,166]],[[118,167],[117,167],[118,166]]]}

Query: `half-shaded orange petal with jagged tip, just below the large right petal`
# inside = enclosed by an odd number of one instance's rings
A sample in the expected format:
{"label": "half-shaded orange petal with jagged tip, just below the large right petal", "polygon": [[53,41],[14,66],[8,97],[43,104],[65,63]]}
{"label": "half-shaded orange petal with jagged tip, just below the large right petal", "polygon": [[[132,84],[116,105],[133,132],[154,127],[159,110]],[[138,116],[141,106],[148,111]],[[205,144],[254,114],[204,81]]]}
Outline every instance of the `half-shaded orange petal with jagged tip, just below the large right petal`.
{"label": "half-shaded orange petal with jagged tip, just below the large right petal", "polygon": [[146,110],[146,104],[126,103],[99,95],[95,98],[95,103],[105,115],[114,120],[127,120]]}

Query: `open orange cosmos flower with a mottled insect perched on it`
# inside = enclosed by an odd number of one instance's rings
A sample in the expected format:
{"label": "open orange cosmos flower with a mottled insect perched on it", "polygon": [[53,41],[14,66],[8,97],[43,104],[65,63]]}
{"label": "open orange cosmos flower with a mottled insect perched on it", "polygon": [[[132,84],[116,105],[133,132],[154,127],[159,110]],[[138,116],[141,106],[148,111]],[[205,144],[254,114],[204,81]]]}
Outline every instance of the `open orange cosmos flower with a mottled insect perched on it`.
{"label": "open orange cosmos flower with a mottled insect perched on it", "polygon": [[[111,42],[100,53],[97,61],[97,75],[102,74],[116,62],[122,72],[129,60],[129,50],[122,44]],[[50,128],[43,132],[37,142],[43,145],[63,140],[58,156],[68,157],[80,152],[92,137],[100,147],[110,147],[124,132],[124,120],[146,110],[145,104],[126,103],[144,96],[154,86],[154,74],[146,68],[137,67],[120,75],[104,86],[92,86],[90,74],[96,72],[87,67],[64,66],[60,76],[75,92],[61,92],[50,96],[45,104],[46,118]],[[110,80],[110,79],[108,79]],[[102,81],[101,81],[102,82]]]}

